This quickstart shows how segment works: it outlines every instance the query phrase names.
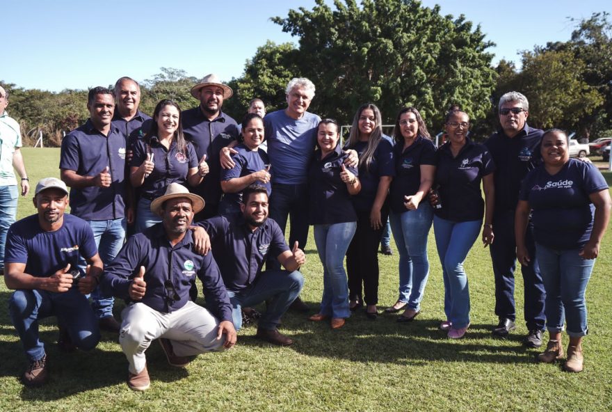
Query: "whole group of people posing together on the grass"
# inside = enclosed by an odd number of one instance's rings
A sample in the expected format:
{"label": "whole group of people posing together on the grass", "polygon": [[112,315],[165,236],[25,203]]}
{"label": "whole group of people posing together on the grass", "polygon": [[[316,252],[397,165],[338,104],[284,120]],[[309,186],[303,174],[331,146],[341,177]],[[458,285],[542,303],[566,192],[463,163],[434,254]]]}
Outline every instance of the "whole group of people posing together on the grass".
{"label": "whole group of people posing together on the grass", "polygon": [[[567,134],[529,127],[526,97],[509,92],[499,101],[501,129],[484,144],[472,141],[469,116],[458,107],[446,114],[447,141],[436,148],[416,108],[401,109],[386,136],[369,103],[355,113],[343,146],[336,120],[307,111],[314,92],[308,79],[291,79],[285,109],[266,114],[254,99],[238,125],[222,111],[233,90],[214,74],[191,89],[198,106],[182,111],[161,100],[152,118],[138,110],[140,89],[129,77],[115,90],[90,90],[90,118],[62,142],[61,180],[38,182],[38,213],[8,230],[4,274],[29,358],[24,383],[48,379],[38,319],[51,315],[65,351],[92,349],[101,328],[118,332],[134,390],[150,386],[145,351],[153,340],[170,365],[184,367],[194,355],[231,348],[243,315],[262,302],[257,338],[292,344],[278,327],[290,306],[309,309],[299,298],[309,225],[323,265],[321,305],[309,319],[342,328],[365,303],[375,320],[387,218],[399,265],[398,299],[385,312],[403,310],[398,322],[419,315],[433,225],[444,279],[440,328],[463,338],[470,324],[463,263],[482,232],[495,278],[493,335],[516,327],[518,259],[524,344],[540,347],[546,327],[549,343],[538,359],[554,362],[564,355],[567,324],[565,369],[582,370],[584,293],[611,200],[593,165],[569,159]],[[8,93],[0,93],[3,145],[7,127],[15,135],[7,139],[13,156],[3,150],[1,166],[15,165],[25,194],[19,129],[3,111]],[[196,276],[204,306],[195,303]],[[121,323],[114,297],[127,302]]]}

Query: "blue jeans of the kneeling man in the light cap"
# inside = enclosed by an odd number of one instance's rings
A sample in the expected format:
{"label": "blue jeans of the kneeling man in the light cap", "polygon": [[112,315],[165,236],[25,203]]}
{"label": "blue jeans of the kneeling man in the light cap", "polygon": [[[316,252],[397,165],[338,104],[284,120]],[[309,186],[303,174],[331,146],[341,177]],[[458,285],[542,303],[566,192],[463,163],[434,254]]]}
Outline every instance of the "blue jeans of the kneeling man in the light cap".
{"label": "blue jeans of the kneeling man in the light cap", "polygon": [[44,317],[56,316],[80,349],[93,349],[100,340],[97,319],[77,287],[63,293],[16,290],[8,301],[8,311],[30,361],[45,356],[45,345],[38,338],[38,319]]}

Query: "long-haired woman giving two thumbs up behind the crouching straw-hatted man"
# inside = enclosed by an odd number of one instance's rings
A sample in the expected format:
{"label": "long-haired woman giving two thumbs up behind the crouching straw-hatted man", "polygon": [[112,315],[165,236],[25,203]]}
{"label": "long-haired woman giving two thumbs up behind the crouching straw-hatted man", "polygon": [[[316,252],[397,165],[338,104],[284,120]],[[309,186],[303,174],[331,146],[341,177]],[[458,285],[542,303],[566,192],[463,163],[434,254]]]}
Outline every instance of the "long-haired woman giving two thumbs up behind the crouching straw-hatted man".
{"label": "long-haired woman giving two thumbs up behind the crouching straw-hatted man", "polygon": [[183,136],[181,109],[172,100],[161,100],[155,106],[151,129],[136,141],[130,162],[130,182],[140,187],[136,212],[136,233],[161,222],[151,212],[152,200],[166,192],[168,184],[198,186],[208,173],[206,155],[198,162],[195,148]]}

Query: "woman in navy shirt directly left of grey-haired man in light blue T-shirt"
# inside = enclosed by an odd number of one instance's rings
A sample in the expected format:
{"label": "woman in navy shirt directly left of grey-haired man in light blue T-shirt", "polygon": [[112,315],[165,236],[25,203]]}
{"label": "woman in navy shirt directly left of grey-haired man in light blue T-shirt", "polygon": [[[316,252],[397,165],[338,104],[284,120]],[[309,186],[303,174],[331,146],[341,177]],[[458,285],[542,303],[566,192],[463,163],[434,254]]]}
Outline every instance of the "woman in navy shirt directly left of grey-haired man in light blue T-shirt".
{"label": "woman in navy shirt directly left of grey-haired man in light blue T-shirt", "polygon": [[219,212],[223,216],[241,213],[242,191],[250,184],[257,183],[266,187],[268,196],[272,192],[268,154],[259,148],[264,142],[264,119],[257,113],[248,113],[241,126],[243,141],[234,147],[234,167],[221,169],[221,189],[225,194]]}

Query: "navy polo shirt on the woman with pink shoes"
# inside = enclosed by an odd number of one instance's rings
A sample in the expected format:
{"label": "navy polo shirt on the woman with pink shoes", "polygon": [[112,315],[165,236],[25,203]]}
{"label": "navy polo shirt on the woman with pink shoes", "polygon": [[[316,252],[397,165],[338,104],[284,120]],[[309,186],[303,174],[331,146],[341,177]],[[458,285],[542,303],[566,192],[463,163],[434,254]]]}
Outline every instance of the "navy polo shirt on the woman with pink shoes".
{"label": "navy polo shirt on the woman with pink shoes", "polygon": [[436,157],[435,184],[440,186],[442,207],[434,209],[435,214],[453,222],[481,221],[485,215],[481,180],[495,170],[487,148],[466,137],[457,157],[450,142],[437,150]]}

